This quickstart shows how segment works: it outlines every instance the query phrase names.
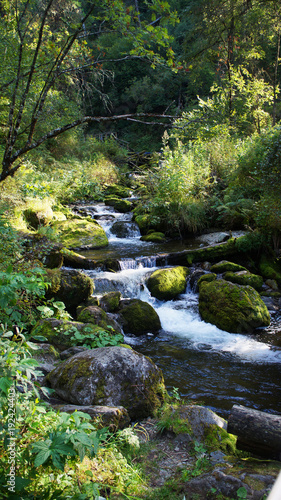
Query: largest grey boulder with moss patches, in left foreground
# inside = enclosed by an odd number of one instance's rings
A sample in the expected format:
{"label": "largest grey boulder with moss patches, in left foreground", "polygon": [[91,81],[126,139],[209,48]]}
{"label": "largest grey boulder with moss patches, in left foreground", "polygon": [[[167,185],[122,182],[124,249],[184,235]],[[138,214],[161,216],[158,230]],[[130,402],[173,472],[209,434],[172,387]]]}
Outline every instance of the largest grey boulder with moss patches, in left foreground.
{"label": "largest grey boulder with moss patches, in left foreground", "polygon": [[64,401],[78,405],[124,406],[132,419],[153,415],[164,402],[161,370],[126,347],[102,347],[76,354],[46,377]]}

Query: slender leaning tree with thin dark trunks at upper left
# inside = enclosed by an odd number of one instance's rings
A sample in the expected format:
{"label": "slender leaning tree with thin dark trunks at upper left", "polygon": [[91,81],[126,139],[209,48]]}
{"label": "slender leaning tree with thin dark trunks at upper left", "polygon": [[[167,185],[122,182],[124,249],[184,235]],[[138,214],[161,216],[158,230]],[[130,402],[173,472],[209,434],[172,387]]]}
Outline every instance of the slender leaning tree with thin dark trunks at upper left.
{"label": "slender leaning tree with thin dark trunks at upper left", "polygon": [[[172,65],[174,54],[165,24],[175,22],[176,15],[166,1],[150,0],[145,21],[138,3],[122,0],[91,0],[84,12],[79,2],[71,0],[0,0],[0,6],[0,48],[4,54],[0,182],[14,175],[29,151],[67,130],[90,122],[148,116],[84,116],[78,90],[87,84],[90,74],[106,74],[106,53],[99,46],[104,33],[119,33],[128,39],[128,52],[115,60],[145,58],[153,67]],[[71,93],[78,97],[74,110]]]}

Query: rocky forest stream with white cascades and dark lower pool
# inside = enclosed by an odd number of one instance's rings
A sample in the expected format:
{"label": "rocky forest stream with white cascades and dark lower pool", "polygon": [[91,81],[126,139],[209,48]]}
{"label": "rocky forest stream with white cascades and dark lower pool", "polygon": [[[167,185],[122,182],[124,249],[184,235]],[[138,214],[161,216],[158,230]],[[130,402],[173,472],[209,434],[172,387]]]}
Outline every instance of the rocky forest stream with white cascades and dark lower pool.
{"label": "rocky forest stream with white cascades and dark lower pool", "polygon": [[131,213],[117,213],[103,203],[81,205],[78,211],[95,218],[109,239],[106,249],[80,253],[93,259],[117,258],[120,262],[121,270],[116,273],[83,270],[94,279],[95,295],[119,290],[123,298],[141,299],[157,311],[162,326],[158,335],[126,335],[125,342],[162,369],[168,391],[178,388],[186,400],[200,402],[224,418],[233,404],[281,414],[278,313],[272,316],[268,328],[252,335],[233,334],[200,319],[198,294],[189,284],[177,300],[162,302],[151,297],[145,279],[159,269],[156,256],[202,246],[202,240],[147,243],[140,240]]}

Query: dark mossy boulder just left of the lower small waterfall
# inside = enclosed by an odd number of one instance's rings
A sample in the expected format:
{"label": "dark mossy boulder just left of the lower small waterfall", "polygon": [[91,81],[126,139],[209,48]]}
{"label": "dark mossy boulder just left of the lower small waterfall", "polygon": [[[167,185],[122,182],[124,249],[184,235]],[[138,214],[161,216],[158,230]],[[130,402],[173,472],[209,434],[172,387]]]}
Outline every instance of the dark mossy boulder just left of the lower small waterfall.
{"label": "dark mossy boulder just left of the lower small waterfall", "polygon": [[91,278],[74,269],[49,269],[45,280],[49,283],[46,297],[64,302],[70,312],[86,301],[94,290]]}

